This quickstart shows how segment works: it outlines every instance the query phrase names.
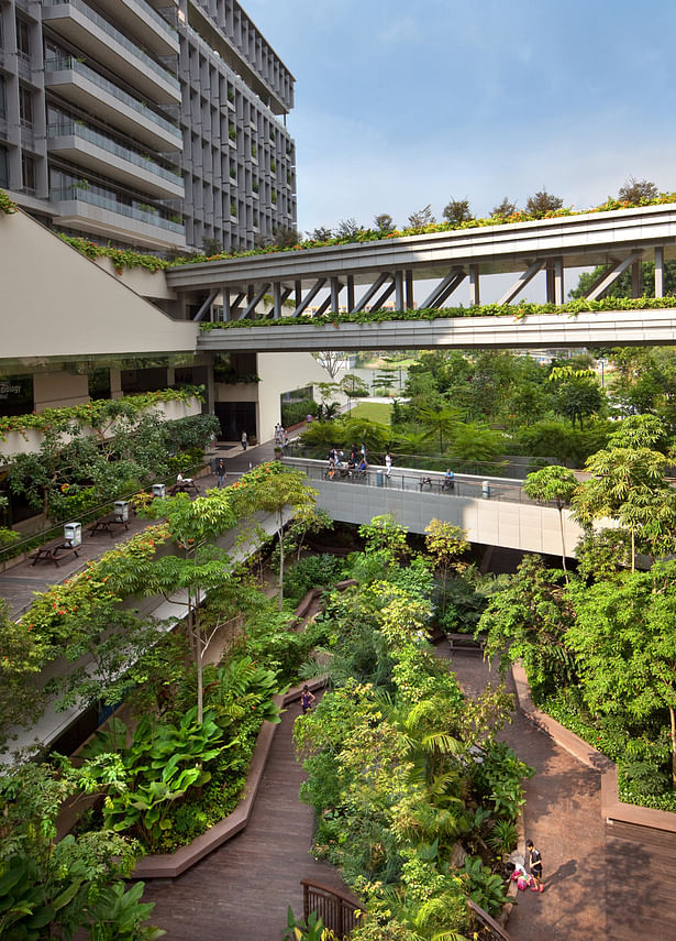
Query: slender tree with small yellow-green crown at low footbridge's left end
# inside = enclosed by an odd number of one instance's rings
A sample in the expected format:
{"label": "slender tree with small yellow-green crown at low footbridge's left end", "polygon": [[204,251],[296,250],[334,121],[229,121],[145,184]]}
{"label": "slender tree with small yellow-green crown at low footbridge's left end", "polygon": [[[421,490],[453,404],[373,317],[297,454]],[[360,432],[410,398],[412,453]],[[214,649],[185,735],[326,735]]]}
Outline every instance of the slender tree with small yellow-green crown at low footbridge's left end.
{"label": "slender tree with small yellow-green crown at low footbridge's left end", "polygon": [[279,580],[277,606],[284,606],[284,527],[286,512],[306,512],[314,505],[317,491],[309,486],[308,478],[280,463],[259,464],[254,471],[232,485],[234,508],[239,517],[251,517],[258,511],[271,513],[276,521],[279,543]]}

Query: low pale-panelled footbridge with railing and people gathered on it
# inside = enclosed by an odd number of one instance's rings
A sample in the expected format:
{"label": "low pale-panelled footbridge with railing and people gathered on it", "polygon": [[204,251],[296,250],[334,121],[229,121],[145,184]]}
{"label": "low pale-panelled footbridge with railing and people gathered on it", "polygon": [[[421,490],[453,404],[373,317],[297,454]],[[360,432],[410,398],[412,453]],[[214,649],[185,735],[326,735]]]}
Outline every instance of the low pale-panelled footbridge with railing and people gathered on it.
{"label": "low pale-panelled footbridge with railing and people gathered on it", "polygon": [[[470,543],[562,555],[558,510],[530,500],[520,480],[459,474],[453,490],[444,491],[443,474],[433,471],[392,468],[388,480],[385,468],[372,467],[365,477],[329,479],[325,461],[285,458],[284,463],[308,474],[319,491],[318,505],[342,523],[361,525],[391,513],[411,533],[424,533],[430,519],[444,519],[462,527]],[[583,530],[568,510],[563,518],[566,556],[574,558]]]}

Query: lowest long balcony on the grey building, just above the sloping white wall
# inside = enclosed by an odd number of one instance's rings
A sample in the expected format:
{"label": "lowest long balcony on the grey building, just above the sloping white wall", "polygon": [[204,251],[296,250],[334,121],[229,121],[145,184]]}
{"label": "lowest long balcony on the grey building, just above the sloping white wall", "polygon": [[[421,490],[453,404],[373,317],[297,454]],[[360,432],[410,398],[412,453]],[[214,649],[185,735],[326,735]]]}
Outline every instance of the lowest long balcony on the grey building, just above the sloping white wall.
{"label": "lowest long balcony on the grey building, just above the sloping white wall", "polygon": [[149,208],[129,206],[113,194],[102,195],[74,185],[53,189],[49,199],[58,214],[54,219],[57,226],[148,248],[182,248],[186,244],[182,222],[164,219]]}

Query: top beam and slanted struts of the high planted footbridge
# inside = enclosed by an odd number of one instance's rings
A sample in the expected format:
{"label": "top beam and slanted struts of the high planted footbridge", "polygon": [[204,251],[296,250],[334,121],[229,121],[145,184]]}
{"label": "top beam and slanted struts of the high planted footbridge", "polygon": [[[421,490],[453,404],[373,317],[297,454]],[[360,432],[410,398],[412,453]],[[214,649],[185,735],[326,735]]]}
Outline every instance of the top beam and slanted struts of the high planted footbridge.
{"label": "top beam and slanted struts of the high planted footbridge", "polygon": [[[664,262],[674,258],[676,205],[667,204],[184,264],[167,272],[167,284],[196,320],[210,319],[217,298],[224,320],[250,317],[266,294],[273,296],[275,319],[287,311],[298,317],[313,302],[319,314],[379,309],[389,298],[397,310],[434,309],[447,306],[466,281],[476,306],[481,278],[509,273],[514,281],[499,304],[512,303],[544,272],[547,300],[558,305],[565,300],[565,272],[583,266],[608,266],[588,299],[601,297],[628,269],[639,296],[644,260],[655,262],[661,297]],[[424,295],[415,296],[420,282]]]}

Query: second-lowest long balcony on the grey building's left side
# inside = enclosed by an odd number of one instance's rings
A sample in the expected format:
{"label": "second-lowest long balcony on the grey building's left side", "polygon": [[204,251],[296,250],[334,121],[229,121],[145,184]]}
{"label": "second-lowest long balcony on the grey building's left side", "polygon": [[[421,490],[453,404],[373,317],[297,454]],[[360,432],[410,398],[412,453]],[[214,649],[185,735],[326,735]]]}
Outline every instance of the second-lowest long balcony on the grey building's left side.
{"label": "second-lowest long balcony on the grey building's left side", "polygon": [[77,121],[49,124],[47,150],[154,197],[184,198],[181,176]]}

